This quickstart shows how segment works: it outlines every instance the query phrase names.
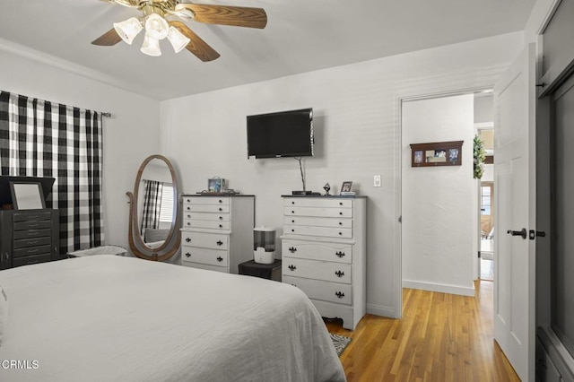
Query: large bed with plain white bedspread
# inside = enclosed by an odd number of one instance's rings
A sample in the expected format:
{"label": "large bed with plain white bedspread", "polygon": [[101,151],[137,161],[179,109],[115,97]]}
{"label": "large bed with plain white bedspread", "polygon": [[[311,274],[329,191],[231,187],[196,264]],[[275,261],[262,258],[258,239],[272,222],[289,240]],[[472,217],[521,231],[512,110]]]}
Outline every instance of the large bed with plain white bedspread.
{"label": "large bed with plain white bedspread", "polygon": [[281,282],[101,255],[0,285],[3,381],[345,380],[316,308]]}

